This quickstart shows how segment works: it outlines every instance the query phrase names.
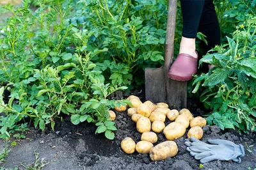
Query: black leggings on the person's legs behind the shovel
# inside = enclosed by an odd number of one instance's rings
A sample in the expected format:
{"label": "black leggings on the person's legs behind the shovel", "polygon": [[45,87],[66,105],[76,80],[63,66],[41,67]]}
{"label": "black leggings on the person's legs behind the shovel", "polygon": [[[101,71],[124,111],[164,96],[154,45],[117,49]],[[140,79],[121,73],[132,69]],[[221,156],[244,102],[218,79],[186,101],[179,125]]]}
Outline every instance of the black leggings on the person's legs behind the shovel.
{"label": "black leggings on the person's legs behind the shovel", "polygon": [[183,29],[182,36],[196,38],[197,32],[207,36],[208,45],[204,50],[210,50],[220,45],[220,25],[214,8],[213,0],[180,0]]}

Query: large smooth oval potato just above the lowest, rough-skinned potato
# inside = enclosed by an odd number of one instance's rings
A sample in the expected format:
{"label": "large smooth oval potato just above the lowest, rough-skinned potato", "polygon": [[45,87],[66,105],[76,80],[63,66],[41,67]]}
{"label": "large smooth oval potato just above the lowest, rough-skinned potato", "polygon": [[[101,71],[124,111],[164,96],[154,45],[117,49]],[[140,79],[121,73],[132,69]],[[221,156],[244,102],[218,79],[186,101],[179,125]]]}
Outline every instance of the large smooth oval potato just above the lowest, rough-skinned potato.
{"label": "large smooth oval potato just above the lowest, rough-skinned potato", "polygon": [[164,128],[164,135],[166,139],[170,141],[182,137],[182,135],[184,135],[185,132],[186,128],[182,124],[175,121],[173,121]]}

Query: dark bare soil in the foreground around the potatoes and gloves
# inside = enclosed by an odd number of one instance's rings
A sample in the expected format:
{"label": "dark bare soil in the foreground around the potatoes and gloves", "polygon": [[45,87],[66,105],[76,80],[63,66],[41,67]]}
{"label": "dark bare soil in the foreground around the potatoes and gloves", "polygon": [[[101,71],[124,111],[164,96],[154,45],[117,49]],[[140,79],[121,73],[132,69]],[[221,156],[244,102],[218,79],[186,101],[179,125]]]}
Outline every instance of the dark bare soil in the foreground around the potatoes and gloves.
{"label": "dark bare soil in the foreground around the potatoes and gloves", "polygon": [[[143,100],[141,94],[141,100]],[[188,107],[194,116],[204,113],[193,102],[189,102]],[[133,153],[127,155],[121,150],[120,143],[125,137],[131,137],[136,143],[140,141],[141,137],[141,134],[136,130],[136,124],[127,116],[127,112],[116,112],[115,123],[118,130],[116,130],[113,141],[109,141],[104,135],[95,134],[96,127],[90,123],[72,125],[69,116],[66,116],[63,121],[56,121],[54,132],[50,130],[50,127],[47,127],[44,132],[31,127],[26,132],[26,139],[16,140],[17,146],[9,147],[11,151],[6,157],[6,162],[1,166],[12,169],[15,167],[26,169],[24,166],[33,167],[34,152],[36,152],[39,153],[39,162],[42,159],[47,162],[44,169],[200,169],[200,162],[186,151],[184,144],[188,140],[186,134],[175,140],[179,147],[179,152],[175,157],[152,162],[147,154]],[[166,122],[166,124],[168,123],[170,122]],[[157,137],[157,143],[166,141],[164,134],[157,134]],[[205,163],[202,169],[256,168],[255,133],[238,134],[234,130],[221,131],[216,126],[205,126],[204,137],[201,141],[207,142],[207,139],[226,139],[236,144],[243,144],[246,156],[242,158],[241,164],[214,160]],[[14,140],[12,139],[9,143]],[[254,146],[248,151],[246,146],[252,144]],[[0,141],[0,149],[3,147],[4,142]]]}

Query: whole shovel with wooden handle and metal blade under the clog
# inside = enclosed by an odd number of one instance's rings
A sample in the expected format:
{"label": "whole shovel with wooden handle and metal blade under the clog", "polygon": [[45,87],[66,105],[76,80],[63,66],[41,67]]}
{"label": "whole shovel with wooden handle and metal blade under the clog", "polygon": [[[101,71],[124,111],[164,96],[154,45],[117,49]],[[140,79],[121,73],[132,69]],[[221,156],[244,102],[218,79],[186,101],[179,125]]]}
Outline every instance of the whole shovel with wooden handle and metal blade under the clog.
{"label": "whole shovel with wooden handle and metal blade under the clog", "polygon": [[145,92],[146,100],[154,103],[165,102],[169,107],[182,109],[187,106],[187,82],[168,78],[168,70],[173,63],[176,12],[177,0],[169,0],[164,65],[145,69]]}

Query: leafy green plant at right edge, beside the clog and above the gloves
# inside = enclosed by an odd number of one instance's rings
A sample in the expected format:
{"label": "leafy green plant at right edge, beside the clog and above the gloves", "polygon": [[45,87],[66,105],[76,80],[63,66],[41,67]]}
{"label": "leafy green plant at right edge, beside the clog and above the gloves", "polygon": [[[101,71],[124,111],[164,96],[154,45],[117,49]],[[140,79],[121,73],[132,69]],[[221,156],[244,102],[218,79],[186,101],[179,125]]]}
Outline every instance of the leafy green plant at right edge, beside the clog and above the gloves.
{"label": "leafy green plant at right edge, beside the clog and above the gloves", "polygon": [[205,107],[212,112],[207,123],[243,132],[256,131],[256,17],[246,15],[228,44],[216,47],[200,64],[215,65],[209,73],[196,76],[193,93],[200,91]]}

